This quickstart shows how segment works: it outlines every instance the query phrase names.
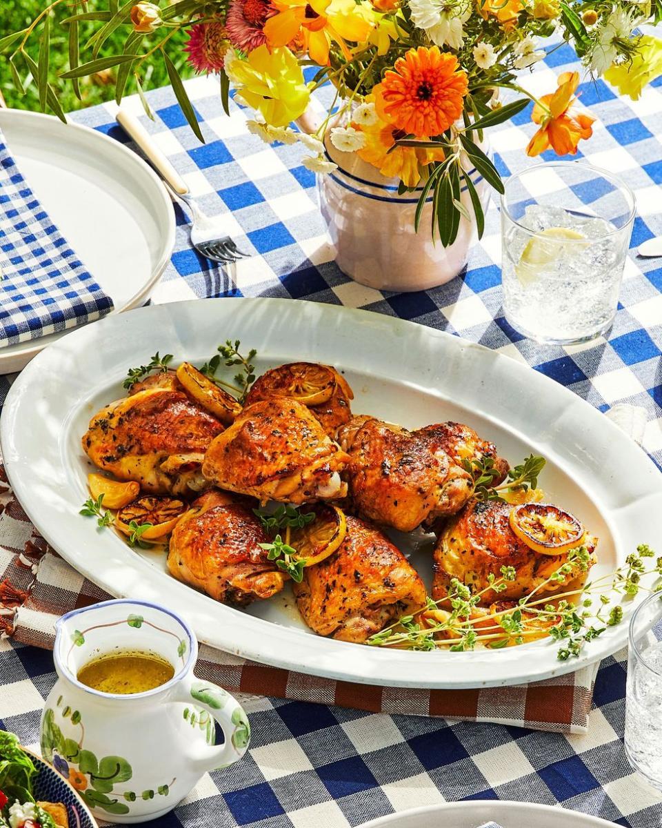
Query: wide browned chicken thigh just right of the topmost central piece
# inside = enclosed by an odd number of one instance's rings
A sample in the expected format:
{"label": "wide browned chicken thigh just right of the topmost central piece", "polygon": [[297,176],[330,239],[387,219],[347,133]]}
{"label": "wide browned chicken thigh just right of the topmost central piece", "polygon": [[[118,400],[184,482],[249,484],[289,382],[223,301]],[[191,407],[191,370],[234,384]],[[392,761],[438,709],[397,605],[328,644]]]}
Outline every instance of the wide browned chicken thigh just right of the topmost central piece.
{"label": "wide browned chicken thigh just right of the topmost central piece", "polygon": [[411,532],[421,523],[459,511],[471,497],[473,480],[462,461],[497,458],[492,443],[460,423],[439,423],[418,431],[355,416],[338,431],[348,452],[349,493],[362,515],[377,523]]}

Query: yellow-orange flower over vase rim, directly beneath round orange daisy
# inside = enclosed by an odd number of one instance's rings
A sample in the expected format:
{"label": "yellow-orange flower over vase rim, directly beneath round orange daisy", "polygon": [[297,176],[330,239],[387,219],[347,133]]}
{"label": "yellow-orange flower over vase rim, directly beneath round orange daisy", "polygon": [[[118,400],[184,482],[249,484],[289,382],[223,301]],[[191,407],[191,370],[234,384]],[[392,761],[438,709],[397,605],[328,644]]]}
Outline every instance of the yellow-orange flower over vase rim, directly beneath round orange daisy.
{"label": "yellow-orange flower over vase rim, directly beneath round orange daisy", "polygon": [[[371,103],[373,95],[368,95],[366,101]],[[421,167],[432,161],[444,161],[444,152],[441,150],[426,150],[418,147],[396,147],[397,137],[405,137],[405,132],[386,123],[381,119],[372,124],[353,123],[355,129],[361,130],[366,140],[363,147],[357,150],[357,156],[377,167],[386,178],[399,178],[406,186],[415,187],[421,178]],[[391,150],[391,152],[389,152]]]}

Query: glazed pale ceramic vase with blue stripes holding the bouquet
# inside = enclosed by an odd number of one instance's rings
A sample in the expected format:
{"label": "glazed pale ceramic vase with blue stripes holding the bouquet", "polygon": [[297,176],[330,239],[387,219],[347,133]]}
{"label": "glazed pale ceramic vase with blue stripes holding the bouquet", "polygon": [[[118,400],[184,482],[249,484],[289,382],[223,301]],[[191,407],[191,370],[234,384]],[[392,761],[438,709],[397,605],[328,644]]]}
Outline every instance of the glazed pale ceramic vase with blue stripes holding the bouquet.
{"label": "glazed pale ceramic vase with blue stripes holding the bouquet", "polygon": [[[319,207],[337,251],[338,267],[348,277],[381,291],[422,291],[443,285],[462,271],[477,241],[467,185],[462,203],[472,218],[460,219],[458,237],[444,248],[439,239],[432,239],[431,194],[419,232],[414,229],[423,182],[415,192],[398,195],[398,179],[385,178],[356,153],[339,152],[329,140],[325,146],[338,169],[318,176]],[[486,147],[483,150],[487,152]],[[470,163],[465,169],[487,209],[487,181]]]}

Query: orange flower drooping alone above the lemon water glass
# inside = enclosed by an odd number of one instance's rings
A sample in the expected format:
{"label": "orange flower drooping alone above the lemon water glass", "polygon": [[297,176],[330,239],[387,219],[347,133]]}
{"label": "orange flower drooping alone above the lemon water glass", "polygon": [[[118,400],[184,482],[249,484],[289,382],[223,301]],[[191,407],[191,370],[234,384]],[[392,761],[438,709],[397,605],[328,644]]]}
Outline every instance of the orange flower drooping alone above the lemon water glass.
{"label": "orange flower drooping alone above the lemon water glass", "polygon": [[526,147],[527,155],[540,155],[549,147],[558,155],[575,155],[581,139],[590,138],[593,134],[595,118],[573,108],[577,100],[573,95],[579,84],[579,73],[564,72],[557,82],[559,88],[556,92],[543,95],[533,108],[531,120],[539,123],[540,129]]}

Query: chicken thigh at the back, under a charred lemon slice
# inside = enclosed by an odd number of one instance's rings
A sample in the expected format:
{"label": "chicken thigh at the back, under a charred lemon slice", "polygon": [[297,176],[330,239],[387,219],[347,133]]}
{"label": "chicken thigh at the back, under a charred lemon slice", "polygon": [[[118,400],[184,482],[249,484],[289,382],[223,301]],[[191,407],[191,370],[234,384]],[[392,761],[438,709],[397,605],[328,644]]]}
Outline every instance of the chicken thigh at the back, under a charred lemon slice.
{"label": "chicken thigh at the back, under a charred lemon slice", "polygon": [[324,431],[333,437],[338,428],[348,422],[352,416],[350,407],[354,398],[352,389],[341,373],[330,365],[319,366],[316,363],[288,363],[278,368],[271,368],[258,377],[253,383],[248,397],[247,406],[253,402],[266,400],[270,397],[289,397],[288,393],[296,373],[302,373],[305,368],[325,368],[329,371],[329,399],[308,405],[310,411],[324,426]]}

